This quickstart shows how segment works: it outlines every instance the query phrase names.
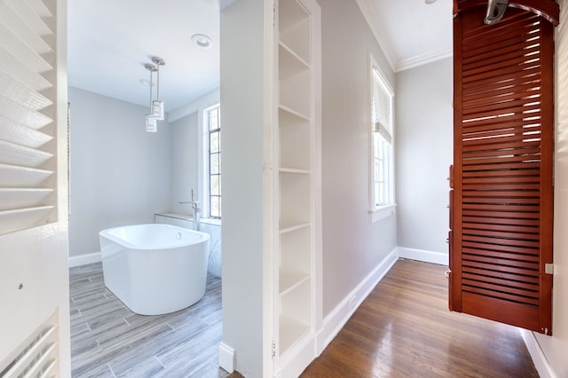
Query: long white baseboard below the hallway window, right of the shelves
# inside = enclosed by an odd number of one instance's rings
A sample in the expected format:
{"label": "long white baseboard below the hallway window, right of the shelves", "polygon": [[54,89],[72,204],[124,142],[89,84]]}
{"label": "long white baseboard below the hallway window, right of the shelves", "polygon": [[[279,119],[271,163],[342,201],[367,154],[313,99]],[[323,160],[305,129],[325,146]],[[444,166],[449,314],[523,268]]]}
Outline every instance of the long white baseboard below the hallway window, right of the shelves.
{"label": "long white baseboard below the hallway window, right of the shelves", "polygon": [[365,280],[362,280],[349,295],[343,298],[343,301],[335,307],[334,311],[331,311],[331,313],[327,315],[326,319],[323,319],[323,325],[319,330],[316,340],[318,356],[326,349],[327,345],[331,343],[335,335],[341,331],[345,323],[347,323],[347,320],[351,318],[353,312],[363,303],[367,295],[371,293],[397,260],[398,250],[395,248],[383,259],[381,264],[376,266],[373,272],[367,275]]}

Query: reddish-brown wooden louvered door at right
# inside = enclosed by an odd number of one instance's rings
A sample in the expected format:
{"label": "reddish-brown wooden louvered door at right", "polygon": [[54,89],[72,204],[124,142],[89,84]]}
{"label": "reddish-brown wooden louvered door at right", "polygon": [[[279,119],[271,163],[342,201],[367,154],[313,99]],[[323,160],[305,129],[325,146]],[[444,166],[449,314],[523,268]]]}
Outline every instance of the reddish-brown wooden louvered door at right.
{"label": "reddish-brown wooden louvered door at right", "polygon": [[550,334],[554,27],[486,7],[454,1],[450,310]]}

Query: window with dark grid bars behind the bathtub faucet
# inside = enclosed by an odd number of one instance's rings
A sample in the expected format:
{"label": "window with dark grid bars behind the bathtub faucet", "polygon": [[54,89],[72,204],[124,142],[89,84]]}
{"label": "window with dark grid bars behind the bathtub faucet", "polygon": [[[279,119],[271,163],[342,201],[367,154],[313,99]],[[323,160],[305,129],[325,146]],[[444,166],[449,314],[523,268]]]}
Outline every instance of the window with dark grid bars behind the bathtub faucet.
{"label": "window with dark grid bars behind the bathtub faucet", "polygon": [[209,130],[209,217],[221,217],[221,112],[216,105],[205,110]]}

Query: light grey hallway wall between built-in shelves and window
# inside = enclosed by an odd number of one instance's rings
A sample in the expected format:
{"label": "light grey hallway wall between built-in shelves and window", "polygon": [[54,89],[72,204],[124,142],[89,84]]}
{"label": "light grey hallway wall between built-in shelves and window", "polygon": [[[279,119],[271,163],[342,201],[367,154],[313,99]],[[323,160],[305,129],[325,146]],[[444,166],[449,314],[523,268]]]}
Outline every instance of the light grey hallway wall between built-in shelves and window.
{"label": "light grey hallway wall between built-in shelves and window", "polygon": [[395,77],[355,2],[319,5],[325,318],[397,246],[395,217],[371,223],[368,212],[369,52],[393,87]]}

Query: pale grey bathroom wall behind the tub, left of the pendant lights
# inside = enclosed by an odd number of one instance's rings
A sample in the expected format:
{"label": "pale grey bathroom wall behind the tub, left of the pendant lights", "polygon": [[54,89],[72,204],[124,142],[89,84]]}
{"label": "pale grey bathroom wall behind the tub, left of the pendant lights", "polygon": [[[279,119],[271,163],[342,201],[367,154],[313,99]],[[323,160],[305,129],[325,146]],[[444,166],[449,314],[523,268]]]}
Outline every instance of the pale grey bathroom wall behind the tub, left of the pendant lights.
{"label": "pale grey bathroom wall behind the tub, left of the pendant lights", "polygon": [[99,231],[154,223],[170,207],[170,127],[144,130],[144,106],[69,88],[69,256],[98,252]]}

